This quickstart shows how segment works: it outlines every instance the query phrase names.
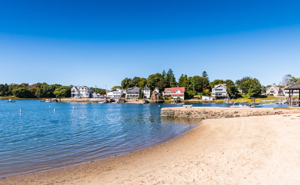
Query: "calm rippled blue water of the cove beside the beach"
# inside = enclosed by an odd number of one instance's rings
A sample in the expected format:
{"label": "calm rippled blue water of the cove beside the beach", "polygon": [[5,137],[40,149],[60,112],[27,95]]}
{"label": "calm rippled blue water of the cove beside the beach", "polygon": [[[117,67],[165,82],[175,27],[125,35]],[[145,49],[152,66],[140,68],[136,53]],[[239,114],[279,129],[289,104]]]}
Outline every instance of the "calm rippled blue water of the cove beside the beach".
{"label": "calm rippled blue water of the cove beside the beach", "polygon": [[162,107],[173,106],[182,104],[0,100],[0,177],[122,155],[178,137],[201,121],[160,117]]}

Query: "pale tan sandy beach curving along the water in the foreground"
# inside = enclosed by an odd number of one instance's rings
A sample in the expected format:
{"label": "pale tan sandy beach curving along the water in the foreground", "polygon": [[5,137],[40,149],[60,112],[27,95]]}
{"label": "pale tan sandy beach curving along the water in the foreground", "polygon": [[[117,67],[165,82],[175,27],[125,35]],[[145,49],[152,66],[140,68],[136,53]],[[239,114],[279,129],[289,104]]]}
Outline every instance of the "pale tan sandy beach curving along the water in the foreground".
{"label": "pale tan sandy beach curving along the water in the foreground", "polygon": [[208,119],[170,142],[0,184],[300,184],[300,114]]}

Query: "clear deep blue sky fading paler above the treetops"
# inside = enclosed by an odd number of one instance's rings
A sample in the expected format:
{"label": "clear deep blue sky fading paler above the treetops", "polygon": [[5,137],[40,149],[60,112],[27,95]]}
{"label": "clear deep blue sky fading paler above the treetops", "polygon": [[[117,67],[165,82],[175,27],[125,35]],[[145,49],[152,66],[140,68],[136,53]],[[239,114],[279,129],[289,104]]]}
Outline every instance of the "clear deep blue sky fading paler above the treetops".
{"label": "clear deep blue sky fading paler above the treetops", "polygon": [[0,1],[0,84],[300,77],[300,1]]}

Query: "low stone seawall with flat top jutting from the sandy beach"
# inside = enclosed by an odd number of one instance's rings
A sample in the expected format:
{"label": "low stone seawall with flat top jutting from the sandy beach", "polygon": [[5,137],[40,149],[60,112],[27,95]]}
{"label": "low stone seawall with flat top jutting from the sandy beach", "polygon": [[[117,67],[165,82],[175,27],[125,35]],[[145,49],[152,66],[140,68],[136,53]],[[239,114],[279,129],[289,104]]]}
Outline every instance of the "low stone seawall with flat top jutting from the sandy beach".
{"label": "low stone seawall with flat top jutting from the sandy beach", "polygon": [[273,108],[223,108],[223,107],[173,107],[162,108],[161,116],[180,117],[180,118],[233,118],[247,116],[264,116],[275,114],[300,113],[300,110],[285,110]]}

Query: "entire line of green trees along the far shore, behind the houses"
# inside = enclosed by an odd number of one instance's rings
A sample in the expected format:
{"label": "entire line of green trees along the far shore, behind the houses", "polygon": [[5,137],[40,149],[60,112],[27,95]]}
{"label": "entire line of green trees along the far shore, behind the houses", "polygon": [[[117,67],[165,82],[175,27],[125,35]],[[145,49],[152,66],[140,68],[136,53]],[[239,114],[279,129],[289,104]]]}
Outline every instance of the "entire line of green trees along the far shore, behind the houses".
{"label": "entire line of green trees along the far shore, behind the houses", "polygon": [[[284,88],[284,86],[292,85],[295,82],[300,81],[299,78],[295,78],[291,75],[285,75],[282,78],[279,86]],[[149,75],[148,78],[134,77],[125,78],[121,82],[121,86],[114,86],[114,88],[128,89],[134,86],[143,88],[146,85],[150,90],[157,88],[160,92],[164,91],[164,88],[171,87],[185,87],[185,97],[192,98],[195,94],[201,93],[202,95],[211,96],[211,89],[215,85],[226,84],[227,92],[230,97],[234,97],[238,94],[238,90],[241,93],[247,94],[249,97],[258,97],[262,93],[265,93],[267,87],[271,85],[262,86],[258,79],[245,76],[242,79],[233,82],[230,79],[222,80],[216,79],[213,82],[209,81],[207,72],[203,71],[201,76],[187,76],[182,74],[178,82],[176,81],[174,72],[169,69],[168,72],[163,70],[162,73],[155,73]],[[73,85],[63,86],[60,84],[48,85],[47,83],[36,83],[29,85],[28,83],[22,84],[0,84],[0,96],[15,96],[19,98],[61,98],[61,97],[71,97],[71,88]],[[93,91],[106,94],[105,89],[90,87]]]}

